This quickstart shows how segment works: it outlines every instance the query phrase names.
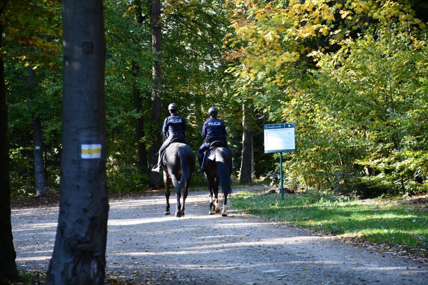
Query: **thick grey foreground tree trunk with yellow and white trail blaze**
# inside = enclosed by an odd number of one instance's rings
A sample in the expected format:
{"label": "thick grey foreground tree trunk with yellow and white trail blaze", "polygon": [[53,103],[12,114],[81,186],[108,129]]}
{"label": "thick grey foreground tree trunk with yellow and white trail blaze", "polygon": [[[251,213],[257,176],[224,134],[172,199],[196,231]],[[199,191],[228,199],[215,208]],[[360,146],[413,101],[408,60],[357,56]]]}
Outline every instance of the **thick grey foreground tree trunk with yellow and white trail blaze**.
{"label": "thick grey foreground tree trunk with yellow and white trail blaze", "polygon": [[108,195],[102,0],[62,0],[60,214],[48,285],[104,284]]}

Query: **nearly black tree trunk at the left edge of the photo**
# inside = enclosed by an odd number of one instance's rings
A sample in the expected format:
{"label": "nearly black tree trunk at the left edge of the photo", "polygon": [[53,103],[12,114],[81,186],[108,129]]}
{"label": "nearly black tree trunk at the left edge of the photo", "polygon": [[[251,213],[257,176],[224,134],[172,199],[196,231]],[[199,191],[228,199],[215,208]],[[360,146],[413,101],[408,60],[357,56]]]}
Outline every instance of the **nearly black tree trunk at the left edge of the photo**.
{"label": "nearly black tree trunk at the left edge of the photo", "polygon": [[[0,35],[3,29],[0,25]],[[0,48],[2,37],[0,36]],[[7,130],[6,90],[4,86],[4,62],[0,57],[0,280],[17,276],[16,252],[13,248],[10,222],[9,145]]]}

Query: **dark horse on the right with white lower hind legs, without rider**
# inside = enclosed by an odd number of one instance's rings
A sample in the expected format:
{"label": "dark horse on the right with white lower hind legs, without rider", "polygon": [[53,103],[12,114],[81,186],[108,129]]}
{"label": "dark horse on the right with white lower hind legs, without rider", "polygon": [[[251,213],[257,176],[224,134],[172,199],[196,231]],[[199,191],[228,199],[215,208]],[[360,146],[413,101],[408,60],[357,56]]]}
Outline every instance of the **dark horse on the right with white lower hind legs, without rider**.
{"label": "dark horse on the right with white lower hind legs, without rider", "polygon": [[[218,204],[218,186],[221,184],[223,190],[224,202],[222,216],[227,216],[227,195],[232,193],[231,174],[233,169],[232,153],[227,147],[219,146],[219,142],[213,142],[210,149],[205,153],[203,168],[205,180],[210,191],[210,210],[213,215],[220,212]],[[214,194],[214,196],[213,196]]]}

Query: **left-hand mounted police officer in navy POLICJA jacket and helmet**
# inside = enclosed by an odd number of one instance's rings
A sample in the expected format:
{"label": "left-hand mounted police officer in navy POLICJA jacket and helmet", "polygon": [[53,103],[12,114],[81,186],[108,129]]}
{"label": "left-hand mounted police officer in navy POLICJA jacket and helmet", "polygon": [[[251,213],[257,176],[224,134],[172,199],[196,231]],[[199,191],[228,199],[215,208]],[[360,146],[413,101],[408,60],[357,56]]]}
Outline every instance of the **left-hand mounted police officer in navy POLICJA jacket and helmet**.
{"label": "left-hand mounted police officer in navy POLICJA jacket and helmet", "polygon": [[164,125],[162,127],[162,135],[165,141],[159,149],[158,164],[152,168],[152,171],[155,172],[161,171],[162,154],[173,140],[176,141],[177,139],[177,141],[187,144],[185,138],[186,124],[184,118],[177,114],[177,104],[171,103],[168,106],[168,111],[171,115],[165,118]]}

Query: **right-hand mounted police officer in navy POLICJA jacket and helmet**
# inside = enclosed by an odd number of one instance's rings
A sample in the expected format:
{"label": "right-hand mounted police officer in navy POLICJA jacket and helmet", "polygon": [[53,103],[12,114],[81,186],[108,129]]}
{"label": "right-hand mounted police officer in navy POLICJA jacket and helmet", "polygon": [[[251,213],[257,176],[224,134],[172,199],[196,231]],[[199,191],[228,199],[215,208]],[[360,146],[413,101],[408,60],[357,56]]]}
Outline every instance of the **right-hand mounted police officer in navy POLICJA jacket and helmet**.
{"label": "right-hand mounted police officer in navy POLICJA jacket and helmet", "polygon": [[214,141],[220,141],[224,146],[227,146],[226,141],[226,126],[224,122],[217,118],[218,111],[215,107],[211,107],[208,110],[209,119],[204,122],[202,127],[202,138],[204,142],[198,149],[198,161],[200,169],[198,173],[203,173],[203,154],[210,147],[210,144]]}

